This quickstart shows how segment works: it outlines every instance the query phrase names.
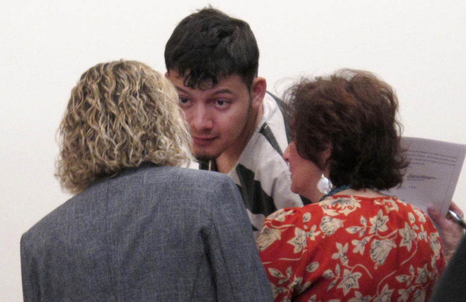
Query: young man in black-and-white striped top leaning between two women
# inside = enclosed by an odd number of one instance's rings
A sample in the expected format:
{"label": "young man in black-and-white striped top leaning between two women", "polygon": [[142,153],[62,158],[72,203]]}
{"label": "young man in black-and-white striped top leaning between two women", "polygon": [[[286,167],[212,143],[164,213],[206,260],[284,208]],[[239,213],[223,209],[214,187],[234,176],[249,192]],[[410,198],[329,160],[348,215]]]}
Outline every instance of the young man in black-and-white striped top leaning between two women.
{"label": "young man in black-and-white striped top leaning between two women", "polygon": [[[259,50],[249,25],[206,8],[184,18],[165,47],[201,168],[229,175],[255,231],[276,209],[302,206],[290,190],[280,105],[258,77]],[[255,232],[258,235],[258,232]]]}

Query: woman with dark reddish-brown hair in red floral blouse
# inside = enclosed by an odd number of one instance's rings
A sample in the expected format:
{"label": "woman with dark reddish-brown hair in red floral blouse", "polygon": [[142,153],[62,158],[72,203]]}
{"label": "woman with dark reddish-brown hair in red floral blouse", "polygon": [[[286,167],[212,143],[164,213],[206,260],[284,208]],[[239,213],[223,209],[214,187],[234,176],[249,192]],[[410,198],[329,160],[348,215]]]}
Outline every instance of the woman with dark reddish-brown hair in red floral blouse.
{"label": "woman with dark reddish-brown hair in red floral blouse", "polygon": [[379,191],[401,183],[397,97],[375,75],[340,70],[286,94],[292,191],[312,201],[270,215],[257,245],[275,301],[425,301],[445,266],[415,206]]}

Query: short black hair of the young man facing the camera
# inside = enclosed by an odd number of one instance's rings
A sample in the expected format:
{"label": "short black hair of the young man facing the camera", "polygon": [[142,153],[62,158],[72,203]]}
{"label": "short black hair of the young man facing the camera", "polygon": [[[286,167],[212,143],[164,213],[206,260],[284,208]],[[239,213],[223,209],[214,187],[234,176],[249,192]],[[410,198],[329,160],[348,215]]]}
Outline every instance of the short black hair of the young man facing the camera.
{"label": "short black hair of the young man facing the camera", "polygon": [[209,88],[235,74],[250,89],[258,73],[259,48],[249,24],[208,7],[176,26],[165,46],[165,65],[190,88]]}

